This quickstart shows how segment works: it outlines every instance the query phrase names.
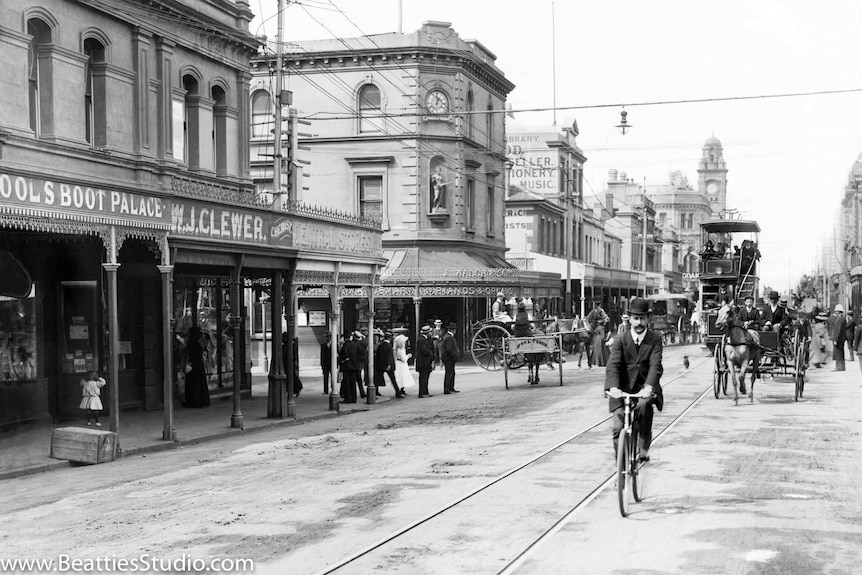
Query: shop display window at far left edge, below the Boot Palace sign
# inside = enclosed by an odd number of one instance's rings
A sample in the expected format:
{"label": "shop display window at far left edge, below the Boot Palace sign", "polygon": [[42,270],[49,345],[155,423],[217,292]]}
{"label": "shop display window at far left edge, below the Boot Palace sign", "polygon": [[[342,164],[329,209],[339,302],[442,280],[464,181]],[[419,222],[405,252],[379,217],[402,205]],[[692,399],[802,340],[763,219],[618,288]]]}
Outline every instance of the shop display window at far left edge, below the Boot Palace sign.
{"label": "shop display window at far left edge, below the Boot Palace sign", "polygon": [[4,380],[40,376],[36,325],[35,286],[25,298],[0,296],[0,371]]}

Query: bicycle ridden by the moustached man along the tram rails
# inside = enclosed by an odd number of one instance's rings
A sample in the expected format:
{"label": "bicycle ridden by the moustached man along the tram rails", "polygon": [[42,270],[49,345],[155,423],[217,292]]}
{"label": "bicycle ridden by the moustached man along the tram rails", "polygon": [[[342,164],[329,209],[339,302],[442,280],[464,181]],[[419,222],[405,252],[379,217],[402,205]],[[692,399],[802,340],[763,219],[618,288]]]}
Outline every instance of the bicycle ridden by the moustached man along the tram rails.
{"label": "bicycle ridden by the moustached man along the tram rails", "polygon": [[[605,391],[605,397],[610,397]],[[638,447],[639,424],[637,402],[632,399],[646,399],[639,393],[620,391],[623,400],[623,428],[620,430],[617,442],[617,498],[620,504],[620,514],[627,517],[629,502],[632,496],[636,502],[644,498],[644,483],[646,478],[646,460],[640,457]]]}

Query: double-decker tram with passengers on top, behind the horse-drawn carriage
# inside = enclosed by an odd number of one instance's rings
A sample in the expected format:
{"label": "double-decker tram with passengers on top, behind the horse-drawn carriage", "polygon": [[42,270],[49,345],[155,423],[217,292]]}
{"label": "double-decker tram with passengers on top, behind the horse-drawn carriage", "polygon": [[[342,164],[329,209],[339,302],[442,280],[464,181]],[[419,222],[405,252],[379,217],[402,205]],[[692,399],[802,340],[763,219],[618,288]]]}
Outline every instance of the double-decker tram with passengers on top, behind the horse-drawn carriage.
{"label": "double-decker tram with passengers on top, behind the horse-drawn carriage", "polygon": [[700,224],[699,303],[704,343],[710,350],[721,341],[715,328],[724,301],[757,302],[760,291],[760,226],[754,220],[708,220]]}

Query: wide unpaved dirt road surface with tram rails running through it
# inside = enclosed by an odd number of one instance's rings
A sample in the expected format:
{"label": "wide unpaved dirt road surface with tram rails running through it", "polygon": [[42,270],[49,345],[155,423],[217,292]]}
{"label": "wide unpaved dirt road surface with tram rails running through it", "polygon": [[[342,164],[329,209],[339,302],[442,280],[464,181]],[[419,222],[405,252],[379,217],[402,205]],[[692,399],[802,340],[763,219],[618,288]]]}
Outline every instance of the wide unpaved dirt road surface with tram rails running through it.
{"label": "wide unpaved dirt road surface with tram rails running through it", "polygon": [[433,398],[0,482],[0,559],[251,558],[255,573],[291,574],[354,557],[334,572],[859,572],[858,367],[812,370],[799,402],[790,378],[766,380],[738,406],[712,396],[698,348],[667,348],[665,367],[654,429],[676,421],[626,519],[608,481],[603,371],[570,360],[562,387],[547,368],[539,386],[512,372],[508,391],[501,372],[481,372],[445,397],[435,372]]}

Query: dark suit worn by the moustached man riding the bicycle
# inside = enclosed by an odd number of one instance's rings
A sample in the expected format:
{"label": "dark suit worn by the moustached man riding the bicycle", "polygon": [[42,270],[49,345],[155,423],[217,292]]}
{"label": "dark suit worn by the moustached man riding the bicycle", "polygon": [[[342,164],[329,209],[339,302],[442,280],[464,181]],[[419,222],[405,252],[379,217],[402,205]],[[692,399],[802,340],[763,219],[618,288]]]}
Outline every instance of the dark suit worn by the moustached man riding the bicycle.
{"label": "dark suit worn by the moustached man riding the bicycle", "polygon": [[[605,391],[617,387],[626,393],[637,393],[645,385],[651,385],[655,397],[651,400],[638,400],[637,411],[641,421],[641,449],[648,450],[652,442],[652,406],[661,411],[664,397],[661,391],[661,336],[647,329],[640,347],[635,345],[631,330],[614,339],[611,355],[605,371]],[[610,398],[608,410],[614,414],[613,438],[614,452],[623,427],[623,400]]]}

